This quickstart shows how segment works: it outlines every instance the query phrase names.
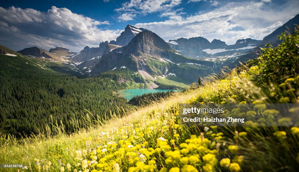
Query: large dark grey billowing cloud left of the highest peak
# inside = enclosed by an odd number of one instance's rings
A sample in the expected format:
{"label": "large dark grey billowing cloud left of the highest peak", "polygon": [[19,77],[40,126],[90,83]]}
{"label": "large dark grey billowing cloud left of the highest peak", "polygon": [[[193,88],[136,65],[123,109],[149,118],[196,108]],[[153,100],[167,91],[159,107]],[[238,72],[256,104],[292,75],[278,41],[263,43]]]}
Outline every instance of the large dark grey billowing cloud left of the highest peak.
{"label": "large dark grey billowing cloud left of the highest peak", "polygon": [[14,50],[62,46],[80,51],[86,45],[94,47],[101,41],[115,39],[121,32],[99,28],[110,25],[108,21],[97,21],[54,6],[47,12],[0,7],[0,21],[0,43]]}

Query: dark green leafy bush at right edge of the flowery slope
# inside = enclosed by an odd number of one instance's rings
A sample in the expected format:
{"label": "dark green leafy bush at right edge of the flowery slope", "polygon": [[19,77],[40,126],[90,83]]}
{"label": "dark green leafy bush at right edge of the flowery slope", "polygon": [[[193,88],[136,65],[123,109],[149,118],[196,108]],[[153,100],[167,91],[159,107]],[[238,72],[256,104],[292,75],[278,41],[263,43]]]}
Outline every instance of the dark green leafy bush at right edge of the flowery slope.
{"label": "dark green leafy bush at right edge of the flowery slope", "polygon": [[258,57],[260,75],[256,78],[259,83],[281,83],[299,74],[299,29],[294,34],[284,32],[278,39],[283,42],[277,46],[261,48],[263,54]]}

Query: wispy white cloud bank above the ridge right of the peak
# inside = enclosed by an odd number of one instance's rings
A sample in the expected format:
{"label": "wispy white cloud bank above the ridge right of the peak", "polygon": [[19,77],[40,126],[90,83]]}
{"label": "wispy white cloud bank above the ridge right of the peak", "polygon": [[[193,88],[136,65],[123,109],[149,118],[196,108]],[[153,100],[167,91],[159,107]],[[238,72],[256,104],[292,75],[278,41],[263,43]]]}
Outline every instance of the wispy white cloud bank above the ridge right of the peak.
{"label": "wispy white cloud bank above the ridge right of the peak", "polygon": [[269,7],[264,2],[231,2],[207,13],[135,25],[155,32],[166,41],[203,36],[209,41],[221,39],[230,45],[237,39],[263,39],[295,16],[298,7],[298,1],[289,1],[279,8]]}

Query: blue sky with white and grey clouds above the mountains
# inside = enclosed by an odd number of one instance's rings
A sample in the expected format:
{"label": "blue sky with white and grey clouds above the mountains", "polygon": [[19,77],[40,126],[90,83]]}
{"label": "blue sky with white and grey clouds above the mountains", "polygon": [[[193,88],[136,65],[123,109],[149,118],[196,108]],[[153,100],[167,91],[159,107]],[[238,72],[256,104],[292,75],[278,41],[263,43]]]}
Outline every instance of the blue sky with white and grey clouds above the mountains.
{"label": "blue sky with white and grey clouds above the mountains", "polygon": [[0,6],[0,44],[13,50],[62,46],[80,51],[116,39],[127,24],[167,42],[203,36],[234,44],[263,39],[299,13],[298,0],[6,1]]}

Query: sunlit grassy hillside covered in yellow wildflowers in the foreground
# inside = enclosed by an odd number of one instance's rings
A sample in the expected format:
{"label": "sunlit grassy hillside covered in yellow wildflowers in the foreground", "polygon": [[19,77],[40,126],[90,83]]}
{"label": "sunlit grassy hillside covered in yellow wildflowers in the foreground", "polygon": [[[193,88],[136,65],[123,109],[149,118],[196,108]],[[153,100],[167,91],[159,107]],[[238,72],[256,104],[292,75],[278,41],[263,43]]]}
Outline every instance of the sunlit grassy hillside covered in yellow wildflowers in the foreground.
{"label": "sunlit grassy hillside covered in yellow wildflowers in the foreground", "polygon": [[102,127],[71,135],[57,127],[54,138],[2,137],[0,163],[24,163],[26,171],[298,171],[298,127],[178,124],[178,103],[298,103],[298,31],[282,39],[225,79],[115,115]]}

